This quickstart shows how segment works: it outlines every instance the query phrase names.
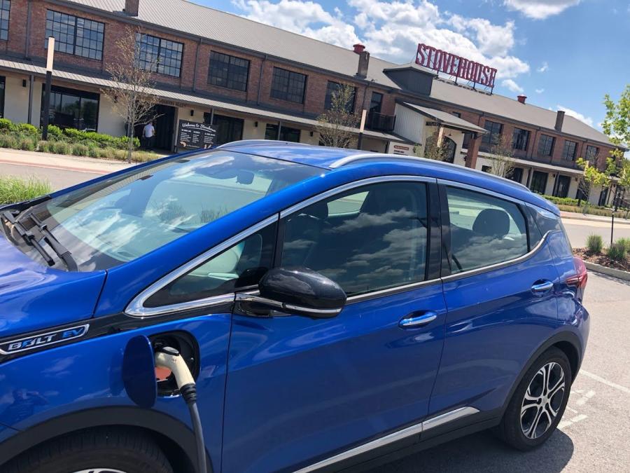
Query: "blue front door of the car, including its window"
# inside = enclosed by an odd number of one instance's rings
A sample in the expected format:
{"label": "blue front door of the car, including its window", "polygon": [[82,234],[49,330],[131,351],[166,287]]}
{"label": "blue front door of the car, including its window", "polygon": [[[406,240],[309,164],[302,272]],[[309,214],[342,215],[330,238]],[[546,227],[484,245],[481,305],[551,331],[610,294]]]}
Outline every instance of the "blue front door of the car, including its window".
{"label": "blue front door of the car, including its window", "polygon": [[419,433],[445,316],[431,204],[435,180],[374,178],[281,214],[276,264],[316,270],[348,300],[331,319],[235,311],[225,471],[297,469],[404,427]]}

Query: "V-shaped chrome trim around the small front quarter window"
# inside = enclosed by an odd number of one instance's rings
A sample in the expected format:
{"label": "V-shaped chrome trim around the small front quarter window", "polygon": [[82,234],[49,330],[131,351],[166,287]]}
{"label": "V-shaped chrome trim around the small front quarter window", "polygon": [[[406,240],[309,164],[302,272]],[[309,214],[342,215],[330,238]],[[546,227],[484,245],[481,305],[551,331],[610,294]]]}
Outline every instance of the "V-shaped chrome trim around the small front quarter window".
{"label": "V-shaped chrome trim around the small front quarter window", "polygon": [[139,318],[155,317],[156,315],[164,315],[167,313],[181,312],[183,310],[192,310],[192,309],[198,309],[198,308],[203,308],[203,307],[218,306],[223,303],[233,302],[235,299],[235,294],[230,293],[230,294],[220,294],[218,296],[211,296],[205,299],[197,299],[195,301],[187,301],[187,302],[181,302],[181,303],[176,303],[176,304],[170,304],[169,306],[159,306],[159,307],[145,307],[144,306],[144,303],[146,302],[147,299],[149,299],[151,296],[153,296],[153,294],[158,292],[160,289],[162,289],[169,283],[176,280],[181,275],[188,273],[189,270],[192,270],[195,267],[199,266],[200,264],[204,263],[204,261],[207,261],[212,256],[215,256],[216,254],[223,252],[225,249],[228,249],[232,245],[236,245],[240,240],[247,238],[249,235],[253,235],[253,233],[256,233],[260,229],[265,228],[265,226],[267,225],[274,224],[278,220],[279,220],[279,214],[274,214],[265,220],[259,221],[258,224],[254,224],[253,226],[247,228],[246,230],[241,231],[241,233],[238,233],[237,235],[234,235],[233,237],[228,238],[228,240],[225,240],[224,242],[216,245],[215,247],[212,247],[206,252],[200,254],[199,256],[196,256],[195,258],[191,259],[187,263],[184,263],[182,266],[179,266],[179,268],[176,268],[171,273],[157,280],[151,286],[147,287],[146,289],[144,289],[144,291],[142,291],[140,294],[135,296],[134,299],[132,299],[132,301],[127,305],[127,308],[125,308],[125,314],[129,315],[130,317],[139,317]]}

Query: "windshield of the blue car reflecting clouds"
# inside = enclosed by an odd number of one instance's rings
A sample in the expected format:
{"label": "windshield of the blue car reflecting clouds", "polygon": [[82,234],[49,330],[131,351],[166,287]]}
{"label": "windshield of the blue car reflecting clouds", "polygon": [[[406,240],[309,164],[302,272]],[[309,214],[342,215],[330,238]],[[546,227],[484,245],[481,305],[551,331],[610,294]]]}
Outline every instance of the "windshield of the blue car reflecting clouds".
{"label": "windshield of the blue car reflecting clouds", "polygon": [[[24,214],[32,212],[48,226],[71,252],[78,270],[101,270],[136,259],[321,172],[308,165],[216,150],[126,172],[47,200]],[[43,261],[33,247],[15,240],[32,259]],[[56,261],[55,267],[64,265]]]}

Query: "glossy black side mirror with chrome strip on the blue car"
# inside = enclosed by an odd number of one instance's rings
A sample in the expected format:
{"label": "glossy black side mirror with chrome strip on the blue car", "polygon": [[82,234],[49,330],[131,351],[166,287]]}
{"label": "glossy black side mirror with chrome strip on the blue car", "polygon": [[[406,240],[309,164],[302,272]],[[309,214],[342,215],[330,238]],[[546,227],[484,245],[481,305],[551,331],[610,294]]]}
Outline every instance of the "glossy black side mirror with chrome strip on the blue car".
{"label": "glossy black side mirror with chrome strip on the blue car", "polygon": [[274,268],[258,283],[260,296],[237,294],[237,300],[258,308],[317,319],[335,317],[346,293],[328,277],[308,268]]}

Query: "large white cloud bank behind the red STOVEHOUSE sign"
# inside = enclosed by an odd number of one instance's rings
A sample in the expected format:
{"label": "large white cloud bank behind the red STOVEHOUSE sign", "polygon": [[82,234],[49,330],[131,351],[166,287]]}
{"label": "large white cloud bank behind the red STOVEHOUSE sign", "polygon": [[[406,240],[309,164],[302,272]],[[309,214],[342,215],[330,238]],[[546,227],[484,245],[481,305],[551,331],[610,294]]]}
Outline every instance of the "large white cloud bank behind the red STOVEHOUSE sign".
{"label": "large white cloud bank behind the red STOVEHOUSE sign", "polygon": [[[435,1],[435,0],[434,0]],[[448,50],[515,78],[529,65],[512,53],[514,22],[494,25],[484,18],[442,12],[429,0],[346,0],[346,16],[313,0],[232,0],[244,16],[311,38],[351,48],[360,42],[376,57],[402,64],[415,58],[418,43]]]}

